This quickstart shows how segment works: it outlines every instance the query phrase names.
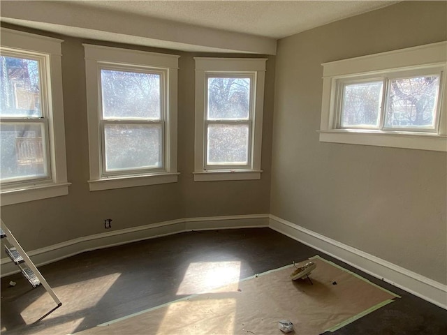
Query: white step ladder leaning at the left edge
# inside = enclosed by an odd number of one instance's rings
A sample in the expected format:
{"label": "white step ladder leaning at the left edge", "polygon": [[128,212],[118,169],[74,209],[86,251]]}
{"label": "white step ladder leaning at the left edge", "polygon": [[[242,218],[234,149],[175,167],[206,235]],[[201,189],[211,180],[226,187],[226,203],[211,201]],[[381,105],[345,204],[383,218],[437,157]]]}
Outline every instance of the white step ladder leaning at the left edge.
{"label": "white step ladder leaning at the left edge", "polygon": [[47,281],[45,281],[45,278],[43,278],[36,265],[34,265],[34,263],[28,257],[27,253],[24,252],[19,242],[17,242],[17,239],[15,239],[14,235],[10,232],[8,227],[6,227],[3,220],[0,219],[0,221],[1,239],[5,238],[8,241],[8,243],[5,243],[6,254],[11,260],[13,260],[15,265],[20,268],[20,272],[22,272],[23,276],[27,278],[33,288],[36,288],[38,285],[41,284],[43,285],[45,290],[47,290],[54,302],[57,304],[57,307],[53,308],[52,311],[62,306],[62,303],[57,297],[56,293],[54,293],[53,289],[50,287],[50,285],[48,285]]}

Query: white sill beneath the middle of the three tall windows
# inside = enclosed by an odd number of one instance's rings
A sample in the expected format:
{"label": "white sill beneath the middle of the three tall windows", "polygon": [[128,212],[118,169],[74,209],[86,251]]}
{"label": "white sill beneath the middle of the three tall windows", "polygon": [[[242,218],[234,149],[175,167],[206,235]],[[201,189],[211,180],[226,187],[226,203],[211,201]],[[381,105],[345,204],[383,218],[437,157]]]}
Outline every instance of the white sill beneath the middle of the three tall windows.
{"label": "white sill beneath the middle of the three tall windows", "polygon": [[114,188],[128,188],[136,186],[148,186],[157,184],[176,183],[179,172],[145,174],[144,176],[109,177],[97,180],[89,180],[90,191],[112,190]]}

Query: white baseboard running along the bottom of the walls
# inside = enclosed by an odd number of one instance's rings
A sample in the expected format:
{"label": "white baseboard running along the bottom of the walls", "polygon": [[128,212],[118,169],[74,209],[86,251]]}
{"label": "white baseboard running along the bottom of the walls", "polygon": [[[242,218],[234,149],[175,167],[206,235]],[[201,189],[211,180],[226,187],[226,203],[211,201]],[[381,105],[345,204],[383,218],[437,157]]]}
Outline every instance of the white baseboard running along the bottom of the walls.
{"label": "white baseboard running along the bottom of the walls", "polygon": [[[265,227],[270,227],[272,230],[300,241],[302,244],[312,246],[312,248],[342,260],[357,269],[365,271],[367,274],[447,309],[447,285],[269,214],[182,218],[79,237],[78,239],[71,239],[70,241],[29,251],[28,255],[34,264],[41,266],[85,251],[179,232]],[[0,264],[2,277],[18,272],[18,268],[9,258],[1,259]]]}

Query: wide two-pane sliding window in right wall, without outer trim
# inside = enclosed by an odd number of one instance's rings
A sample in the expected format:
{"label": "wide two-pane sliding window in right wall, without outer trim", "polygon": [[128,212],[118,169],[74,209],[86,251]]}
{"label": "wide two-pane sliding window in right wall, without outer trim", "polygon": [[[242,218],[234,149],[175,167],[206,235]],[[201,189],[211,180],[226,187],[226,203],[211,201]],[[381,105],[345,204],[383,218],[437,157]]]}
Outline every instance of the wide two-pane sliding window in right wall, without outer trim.
{"label": "wide two-pane sliding window in right wall, without outer trim", "polygon": [[437,133],[442,73],[422,68],[379,79],[337,80],[335,128]]}

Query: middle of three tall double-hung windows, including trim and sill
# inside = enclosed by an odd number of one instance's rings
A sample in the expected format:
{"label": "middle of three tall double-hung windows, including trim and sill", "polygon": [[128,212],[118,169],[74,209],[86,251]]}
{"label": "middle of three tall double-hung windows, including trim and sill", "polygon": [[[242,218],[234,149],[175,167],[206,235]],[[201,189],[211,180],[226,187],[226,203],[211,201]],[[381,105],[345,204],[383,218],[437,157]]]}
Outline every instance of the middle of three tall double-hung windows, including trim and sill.
{"label": "middle of three tall double-hung windows, including trim and sill", "polygon": [[84,47],[90,191],[176,182],[178,56]]}

